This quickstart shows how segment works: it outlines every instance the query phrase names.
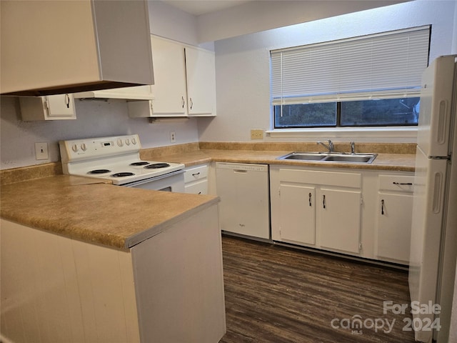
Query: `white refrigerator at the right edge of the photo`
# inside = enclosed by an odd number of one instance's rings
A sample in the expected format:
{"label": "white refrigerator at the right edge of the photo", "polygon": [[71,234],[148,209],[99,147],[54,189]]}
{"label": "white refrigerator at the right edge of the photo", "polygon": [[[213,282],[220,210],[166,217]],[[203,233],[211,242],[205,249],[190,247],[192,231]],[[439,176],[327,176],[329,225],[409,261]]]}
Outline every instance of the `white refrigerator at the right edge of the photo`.
{"label": "white refrigerator at the right edge of the photo", "polygon": [[422,76],[409,267],[410,327],[418,342],[449,343],[456,324],[456,61],[438,57]]}

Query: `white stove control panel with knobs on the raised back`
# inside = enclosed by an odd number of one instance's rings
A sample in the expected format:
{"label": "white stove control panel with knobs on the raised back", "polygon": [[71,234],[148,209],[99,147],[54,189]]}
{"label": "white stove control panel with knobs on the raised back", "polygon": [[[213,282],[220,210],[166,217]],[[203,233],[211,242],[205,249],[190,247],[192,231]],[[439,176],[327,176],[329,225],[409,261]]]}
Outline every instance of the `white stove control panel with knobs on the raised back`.
{"label": "white stove control panel with knobs on the raised back", "polygon": [[141,149],[138,134],[59,141],[61,161],[83,161],[135,153]]}

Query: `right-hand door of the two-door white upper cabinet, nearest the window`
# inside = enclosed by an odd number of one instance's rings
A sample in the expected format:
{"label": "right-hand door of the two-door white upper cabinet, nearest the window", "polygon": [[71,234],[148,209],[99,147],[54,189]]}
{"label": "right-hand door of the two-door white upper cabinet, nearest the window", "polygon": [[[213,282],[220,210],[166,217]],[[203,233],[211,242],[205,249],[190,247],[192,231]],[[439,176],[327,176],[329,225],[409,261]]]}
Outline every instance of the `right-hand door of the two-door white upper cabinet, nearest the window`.
{"label": "right-hand door of the two-door white upper cabinet, nearest the window", "polygon": [[186,76],[189,116],[215,116],[216,66],[214,53],[186,47]]}

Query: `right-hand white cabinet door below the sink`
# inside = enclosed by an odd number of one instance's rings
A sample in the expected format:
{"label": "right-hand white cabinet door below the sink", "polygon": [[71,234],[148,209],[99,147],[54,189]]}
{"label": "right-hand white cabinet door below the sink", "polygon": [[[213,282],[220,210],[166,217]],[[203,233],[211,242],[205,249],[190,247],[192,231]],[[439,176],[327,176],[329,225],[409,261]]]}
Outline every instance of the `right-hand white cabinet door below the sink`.
{"label": "right-hand white cabinet door below the sink", "polygon": [[321,188],[318,192],[318,230],[321,247],[358,253],[361,229],[361,191]]}

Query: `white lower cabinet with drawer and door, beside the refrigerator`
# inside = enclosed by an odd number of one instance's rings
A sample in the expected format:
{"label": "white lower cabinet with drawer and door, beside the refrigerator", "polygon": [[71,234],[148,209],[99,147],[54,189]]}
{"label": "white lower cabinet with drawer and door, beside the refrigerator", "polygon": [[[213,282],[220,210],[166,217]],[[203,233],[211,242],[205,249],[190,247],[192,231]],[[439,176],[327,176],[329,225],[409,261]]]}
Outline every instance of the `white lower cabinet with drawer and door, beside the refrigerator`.
{"label": "white lower cabinet with drawer and door, beside the refrigerator", "polygon": [[378,177],[377,259],[408,264],[413,212],[413,175]]}

